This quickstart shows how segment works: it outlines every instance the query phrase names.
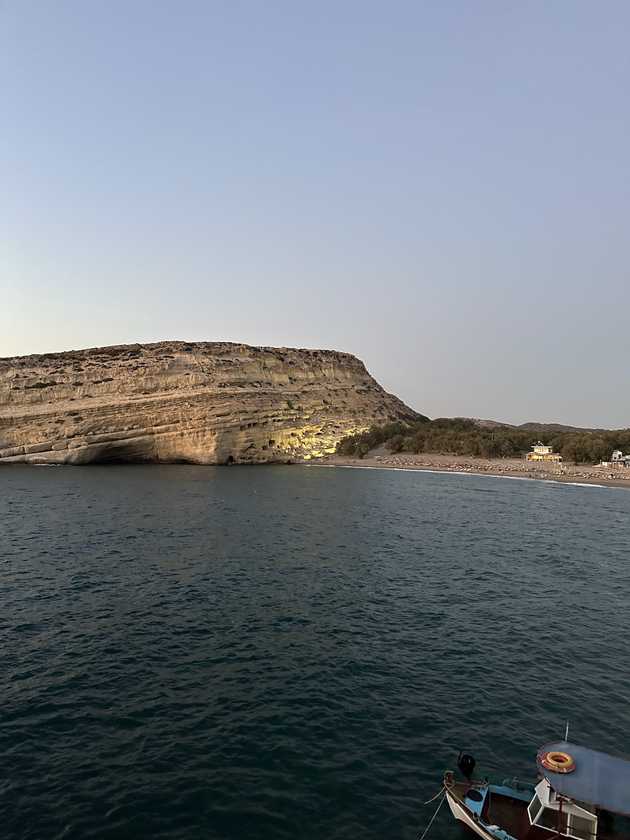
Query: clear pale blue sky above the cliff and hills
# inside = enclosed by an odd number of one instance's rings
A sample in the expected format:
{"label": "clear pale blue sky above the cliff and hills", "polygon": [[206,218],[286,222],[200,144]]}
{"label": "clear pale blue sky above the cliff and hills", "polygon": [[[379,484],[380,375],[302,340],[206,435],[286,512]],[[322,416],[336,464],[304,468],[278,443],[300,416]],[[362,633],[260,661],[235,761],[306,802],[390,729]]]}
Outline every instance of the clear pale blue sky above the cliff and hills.
{"label": "clear pale blue sky above the cliff and hills", "polygon": [[0,0],[0,356],[329,347],[630,425],[630,3]]}

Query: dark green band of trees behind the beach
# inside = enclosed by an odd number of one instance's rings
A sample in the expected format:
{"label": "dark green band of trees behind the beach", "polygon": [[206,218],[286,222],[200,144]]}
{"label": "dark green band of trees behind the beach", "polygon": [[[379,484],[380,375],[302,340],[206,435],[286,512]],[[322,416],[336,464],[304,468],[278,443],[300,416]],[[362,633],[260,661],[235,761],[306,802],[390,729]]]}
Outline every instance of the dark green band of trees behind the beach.
{"label": "dark green band of trees behind the beach", "polygon": [[630,452],[630,429],[560,431],[545,426],[489,428],[474,420],[440,418],[372,426],[365,432],[342,438],[337,444],[337,453],[363,458],[371,449],[384,444],[390,452],[522,458],[539,439],[552,446],[563,460],[574,464],[596,464],[608,460],[614,449]]}

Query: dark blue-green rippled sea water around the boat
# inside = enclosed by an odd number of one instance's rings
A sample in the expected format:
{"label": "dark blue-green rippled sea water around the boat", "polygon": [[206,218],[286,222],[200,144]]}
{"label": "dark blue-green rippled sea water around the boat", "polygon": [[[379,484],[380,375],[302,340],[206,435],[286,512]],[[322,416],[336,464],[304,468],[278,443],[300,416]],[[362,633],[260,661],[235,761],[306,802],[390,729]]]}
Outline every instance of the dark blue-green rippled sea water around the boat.
{"label": "dark blue-green rippled sea water around the boat", "polygon": [[460,747],[531,776],[569,718],[629,754],[629,523],[486,477],[2,469],[2,837],[411,840]]}

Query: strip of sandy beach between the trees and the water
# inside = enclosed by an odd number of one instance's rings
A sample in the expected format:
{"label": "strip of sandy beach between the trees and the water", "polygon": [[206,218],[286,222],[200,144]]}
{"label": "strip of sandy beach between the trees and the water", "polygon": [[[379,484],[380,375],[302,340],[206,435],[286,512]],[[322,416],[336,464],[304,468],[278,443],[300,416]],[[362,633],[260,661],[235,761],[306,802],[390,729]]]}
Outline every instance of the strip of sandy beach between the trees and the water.
{"label": "strip of sandy beach between the trees and the water", "polygon": [[457,455],[433,455],[426,452],[391,453],[379,448],[365,458],[348,458],[329,455],[310,462],[313,466],[372,467],[400,470],[427,470],[437,472],[494,475],[507,478],[525,478],[558,481],[566,484],[591,484],[604,487],[630,489],[630,469],[611,469],[590,464],[536,464],[517,458],[471,458]]}

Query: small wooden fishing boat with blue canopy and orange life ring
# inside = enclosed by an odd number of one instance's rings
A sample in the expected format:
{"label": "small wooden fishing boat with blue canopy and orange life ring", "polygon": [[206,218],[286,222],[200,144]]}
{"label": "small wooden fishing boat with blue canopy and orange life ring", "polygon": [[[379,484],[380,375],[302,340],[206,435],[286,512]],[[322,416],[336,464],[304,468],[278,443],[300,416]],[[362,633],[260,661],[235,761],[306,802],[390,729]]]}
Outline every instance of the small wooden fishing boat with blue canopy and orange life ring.
{"label": "small wooden fishing boat with blue canopy and orange life ring", "polygon": [[538,751],[538,780],[475,780],[461,755],[462,779],[449,771],[444,791],[453,816],[485,840],[630,840],[630,761],[557,741]]}

